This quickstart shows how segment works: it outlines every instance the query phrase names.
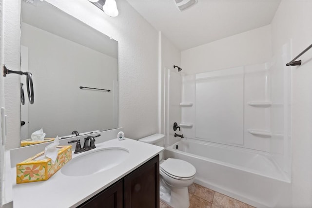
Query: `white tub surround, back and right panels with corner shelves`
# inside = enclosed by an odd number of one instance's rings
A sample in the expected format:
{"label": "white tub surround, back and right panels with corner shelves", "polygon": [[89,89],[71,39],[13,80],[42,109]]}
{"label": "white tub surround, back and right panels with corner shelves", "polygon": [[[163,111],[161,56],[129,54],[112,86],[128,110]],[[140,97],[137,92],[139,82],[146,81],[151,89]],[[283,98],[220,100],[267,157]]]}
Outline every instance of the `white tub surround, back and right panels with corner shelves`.
{"label": "white tub surround, back and right panels with corner shelves", "polygon": [[291,178],[290,46],[272,62],[184,76],[184,137],[269,153]]}

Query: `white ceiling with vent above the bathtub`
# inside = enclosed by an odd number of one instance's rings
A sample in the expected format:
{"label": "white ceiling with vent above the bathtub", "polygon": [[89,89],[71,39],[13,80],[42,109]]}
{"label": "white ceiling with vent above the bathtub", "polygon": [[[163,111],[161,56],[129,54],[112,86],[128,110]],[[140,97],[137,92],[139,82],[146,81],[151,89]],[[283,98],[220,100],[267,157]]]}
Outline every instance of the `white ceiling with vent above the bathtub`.
{"label": "white ceiling with vent above the bathtub", "polygon": [[127,1],[180,50],[268,25],[280,3],[280,0],[198,0],[181,12],[175,0]]}

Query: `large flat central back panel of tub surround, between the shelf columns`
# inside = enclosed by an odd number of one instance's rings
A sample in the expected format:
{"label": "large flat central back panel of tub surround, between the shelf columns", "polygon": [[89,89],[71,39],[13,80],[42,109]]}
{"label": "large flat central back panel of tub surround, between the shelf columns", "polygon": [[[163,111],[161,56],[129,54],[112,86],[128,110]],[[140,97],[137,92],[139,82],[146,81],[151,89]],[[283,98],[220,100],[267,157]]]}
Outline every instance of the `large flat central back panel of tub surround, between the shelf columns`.
{"label": "large flat central back panel of tub surround, between the shelf columns", "polygon": [[196,74],[195,83],[195,138],[243,145],[244,67]]}

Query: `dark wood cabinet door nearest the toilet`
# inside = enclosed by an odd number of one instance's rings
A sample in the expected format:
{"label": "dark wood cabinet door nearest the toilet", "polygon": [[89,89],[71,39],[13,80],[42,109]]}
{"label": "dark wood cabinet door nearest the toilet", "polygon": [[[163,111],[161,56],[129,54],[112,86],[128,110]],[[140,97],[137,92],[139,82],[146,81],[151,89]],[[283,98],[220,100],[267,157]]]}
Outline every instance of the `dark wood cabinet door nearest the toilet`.
{"label": "dark wood cabinet door nearest the toilet", "polygon": [[124,177],[124,208],[159,208],[159,156]]}

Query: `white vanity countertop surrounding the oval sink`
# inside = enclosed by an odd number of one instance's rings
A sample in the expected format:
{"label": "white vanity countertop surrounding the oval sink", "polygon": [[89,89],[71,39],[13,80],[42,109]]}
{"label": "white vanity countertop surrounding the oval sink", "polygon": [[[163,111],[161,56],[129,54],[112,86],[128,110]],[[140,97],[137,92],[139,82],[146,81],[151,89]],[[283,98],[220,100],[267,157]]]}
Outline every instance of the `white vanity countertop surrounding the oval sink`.
{"label": "white vanity countertop surrounding the oval sink", "polygon": [[[59,170],[46,181],[23,184],[16,184],[16,168],[12,168],[14,208],[77,207],[164,150],[163,147],[143,143],[134,139],[112,139],[102,143],[96,143],[96,146],[96,149],[84,153],[96,151],[98,148],[103,147],[120,147],[129,150],[129,156],[121,164],[104,172],[87,176],[67,176]],[[75,158],[84,153],[73,153],[72,157]],[[100,162],[109,158],[94,159]]]}

